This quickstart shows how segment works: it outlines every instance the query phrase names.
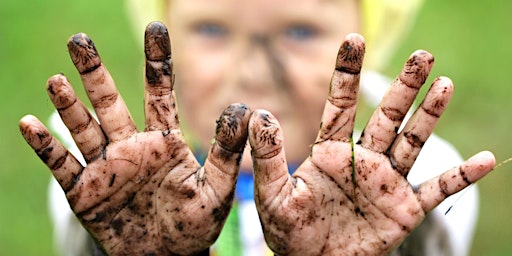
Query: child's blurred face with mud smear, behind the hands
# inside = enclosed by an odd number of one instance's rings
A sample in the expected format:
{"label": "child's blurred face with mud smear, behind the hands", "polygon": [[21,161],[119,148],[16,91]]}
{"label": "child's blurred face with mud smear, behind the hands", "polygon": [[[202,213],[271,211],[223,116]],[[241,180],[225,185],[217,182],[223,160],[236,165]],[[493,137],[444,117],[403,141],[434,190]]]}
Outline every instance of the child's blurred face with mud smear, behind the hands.
{"label": "child's blurred face with mud smear, behind the hands", "polygon": [[187,132],[207,149],[223,109],[243,102],[272,112],[289,161],[302,161],[339,45],[359,31],[359,8],[356,0],[171,1],[167,23]]}

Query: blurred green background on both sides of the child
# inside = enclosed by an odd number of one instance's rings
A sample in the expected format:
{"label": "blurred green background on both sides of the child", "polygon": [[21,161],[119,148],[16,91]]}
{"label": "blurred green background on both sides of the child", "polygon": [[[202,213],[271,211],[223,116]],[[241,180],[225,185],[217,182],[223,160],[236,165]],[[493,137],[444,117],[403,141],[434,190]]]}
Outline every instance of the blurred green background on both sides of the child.
{"label": "blurred green background on both sides of the child", "polygon": [[[0,1],[0,255],[52,255],[47,213],[50,172],[27,146],[18,120],[52,112],[45,82],[63,72],[80,88],[66,40],[86,32],[95,41],[140,126],[142,38],[133,36],[123,1]],[[435,76],[456,90],[436,132],[467,158],[492,150],[512,157],[512,1],[431,0],[385,74],[394,77],[417,48],[432,52]],[[85,99],[83,90],[77,89]],[[512,163],[479,184],[481,211],[472,255],[512,255]]]}

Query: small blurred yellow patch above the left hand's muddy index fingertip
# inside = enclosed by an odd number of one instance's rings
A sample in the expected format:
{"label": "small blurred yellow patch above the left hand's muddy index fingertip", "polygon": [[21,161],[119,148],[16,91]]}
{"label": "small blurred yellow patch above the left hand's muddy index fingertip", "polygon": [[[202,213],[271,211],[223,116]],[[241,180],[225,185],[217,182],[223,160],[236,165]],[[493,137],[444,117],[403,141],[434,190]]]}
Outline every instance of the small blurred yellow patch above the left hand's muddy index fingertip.
{"label": "small blurred yellow patch above the left hand's muddy index fingertip", "polygon": [[132,24],[134,35],[141,43],[146,26],[152,21],[167,22],[165,13],[170,0],[127,0],[126,14]]}

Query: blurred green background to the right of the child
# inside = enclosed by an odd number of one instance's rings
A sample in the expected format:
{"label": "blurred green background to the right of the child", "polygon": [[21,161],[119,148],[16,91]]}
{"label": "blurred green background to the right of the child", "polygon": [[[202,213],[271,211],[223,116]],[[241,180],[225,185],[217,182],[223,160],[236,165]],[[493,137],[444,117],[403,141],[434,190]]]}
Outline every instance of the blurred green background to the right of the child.
{"label": "blurred green background to the right of the child", "polygon": [[[483,149],[491,150],[498,162],[512,157],[510,10],[512,2],[507,0],[426,1],[387,71],[396,73],[401,60],[417,48],[434,54],[429,81],[444,75],[455,84],[436,133],[464,158]],[[472,255],[512,255],[511,170],[511,164],[504,165],[479,182],[480,216]]]}

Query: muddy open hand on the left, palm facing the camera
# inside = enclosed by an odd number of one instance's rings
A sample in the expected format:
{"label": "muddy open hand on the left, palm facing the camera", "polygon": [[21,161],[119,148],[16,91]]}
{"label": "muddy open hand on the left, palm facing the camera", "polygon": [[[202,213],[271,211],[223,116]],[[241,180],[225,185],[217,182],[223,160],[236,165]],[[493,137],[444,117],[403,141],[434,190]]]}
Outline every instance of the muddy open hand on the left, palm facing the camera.
{"label": "muddy open hand on the left, palm facing the camera", "polygon": [[205,250],[231,207],[250,110],[233,104],[224,111],[201,167],[179,129],[169,36],[161,23],[146,29],[143,132],[137,131],[93,42],[76,34],[68,48],[101,125],[63,75],[51,77],[47,89],[87,166],[35,117],[25,116],[20,129],[61,184],[73,211],[109,255]]}

